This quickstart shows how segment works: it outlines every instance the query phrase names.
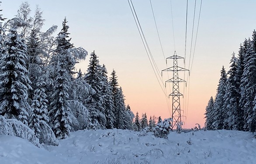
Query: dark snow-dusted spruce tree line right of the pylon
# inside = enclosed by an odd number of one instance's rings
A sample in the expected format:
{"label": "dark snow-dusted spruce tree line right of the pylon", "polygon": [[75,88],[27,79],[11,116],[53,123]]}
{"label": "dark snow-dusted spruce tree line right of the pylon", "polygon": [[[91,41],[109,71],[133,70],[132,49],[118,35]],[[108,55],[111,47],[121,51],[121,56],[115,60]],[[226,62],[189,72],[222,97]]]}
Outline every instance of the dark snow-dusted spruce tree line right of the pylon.
{"label": "dark snow-dusted spruce tree line right of the pylon", "polygon": [[206,107],[208,130],[256,132],[256,31],[232,54],[229,70],[224,66],[215,98]]}

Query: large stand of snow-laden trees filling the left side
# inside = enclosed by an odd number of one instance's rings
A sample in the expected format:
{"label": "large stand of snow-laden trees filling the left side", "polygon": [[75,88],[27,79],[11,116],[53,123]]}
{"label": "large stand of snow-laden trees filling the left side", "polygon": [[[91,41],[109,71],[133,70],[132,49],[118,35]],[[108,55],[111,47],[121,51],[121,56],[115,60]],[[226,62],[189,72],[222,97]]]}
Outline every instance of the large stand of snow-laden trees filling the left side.
{"label": "large stand of snow-laden trees filling the left side", "polygon": [[132,130],[134,114],[116,71],[109,78],[93,51],[87,72],[77,72],[75,64],[87,51],[72,44],[66,17],[54,37],[57,26],[41,31],[42,10],[30,13],[23,2],[15,18],[0,15],[0,121],[20,121],[40,143],[51,140],[45,138],[50,132],[63,139],[83,129]]}

